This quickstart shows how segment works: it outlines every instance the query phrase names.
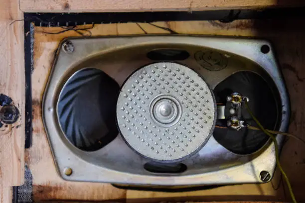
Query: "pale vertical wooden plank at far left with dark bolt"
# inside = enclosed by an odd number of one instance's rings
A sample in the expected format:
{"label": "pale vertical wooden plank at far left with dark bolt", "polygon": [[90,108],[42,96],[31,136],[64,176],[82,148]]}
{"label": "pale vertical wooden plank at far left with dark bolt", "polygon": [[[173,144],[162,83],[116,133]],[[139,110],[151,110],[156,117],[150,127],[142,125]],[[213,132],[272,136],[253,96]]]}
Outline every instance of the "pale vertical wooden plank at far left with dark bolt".
{"label": "pale vertical wooden plank at far left with dark bolt", "polygon": [[[0,128],[0,186],[20,185],[24,174],[23,22],[18,0],[0,0],[0,93],[13,100],[20,117]],[[11,24],[12,23],[12,24]]]}

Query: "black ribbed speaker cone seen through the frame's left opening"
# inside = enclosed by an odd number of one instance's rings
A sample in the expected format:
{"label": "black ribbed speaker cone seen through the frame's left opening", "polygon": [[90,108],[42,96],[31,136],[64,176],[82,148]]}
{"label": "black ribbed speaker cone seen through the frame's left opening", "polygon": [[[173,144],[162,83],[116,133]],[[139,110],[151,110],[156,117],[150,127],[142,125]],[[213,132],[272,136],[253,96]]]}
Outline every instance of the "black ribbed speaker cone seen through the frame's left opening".
{"label": "black ribbed speaker cone seen through the frame's left opening", "polygon": [[118,83],[98,69],[83,69],[68,80],[58,102],[59,123],[68,140],[85,151],[102,148],[118,135]]}

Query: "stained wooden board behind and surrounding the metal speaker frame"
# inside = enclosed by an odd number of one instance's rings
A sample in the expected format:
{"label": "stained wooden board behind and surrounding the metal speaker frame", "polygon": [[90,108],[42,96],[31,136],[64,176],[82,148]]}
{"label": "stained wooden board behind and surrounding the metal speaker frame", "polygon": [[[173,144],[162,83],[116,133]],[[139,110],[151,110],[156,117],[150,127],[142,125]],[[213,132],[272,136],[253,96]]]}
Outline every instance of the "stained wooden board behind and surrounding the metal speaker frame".
{"label": "stained wooden board behind and surrounding the metal speaker frame", "polygon": [[[290,132],[299,136],[305,128],[305,27],[302,20],[237,20],[232,23],[218,21],[158,22],[160,26],[183,34],[260,37],[271,40],[284,73],[291,97],[292,120]],[[168,33],[147,23],[140,25],[149,33]],[[90,26],[90,25],[86,25]],[[81,26],[84,27],[84,26]],[[56,173],[51,151],[41,118],[43,91],[51,70],[54,53],[59,42],[69,36],[79,36],[74,31],[60,34],[59,27],[35,27],[34,71],[32,73],[33,145],[26,150],[26,163],[33,175],[35,201],[126,201],[129,203],[157,203],[162,201],[290,201],[288,190],[280,184],[276,173],[272,183],[226,186],[205,191],[185,193],[160,193],[119,190],[110,184],[66,182]],[[136,23],[102,24],[90,29],[93,36],[144,34]],[[88,33],[85,33],[88,34]],[[305,201],[305,147],[289,140],[283,149],[282,165],[291,179],[297,200]],[[125,200],[126,199],[126,200]]]}

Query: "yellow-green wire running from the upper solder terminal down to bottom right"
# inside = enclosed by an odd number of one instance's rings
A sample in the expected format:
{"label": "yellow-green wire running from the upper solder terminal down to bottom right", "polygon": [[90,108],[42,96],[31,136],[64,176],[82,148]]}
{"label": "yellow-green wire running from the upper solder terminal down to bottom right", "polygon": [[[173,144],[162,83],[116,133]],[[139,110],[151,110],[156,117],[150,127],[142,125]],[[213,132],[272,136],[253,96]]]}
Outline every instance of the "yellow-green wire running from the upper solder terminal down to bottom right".
{"label": "yellow-green wire running from the upper solder terminal down to bottom right", "polygon": [[[281,173],[283,174],[283,177],[287,183],[287,186],[288,186],[288,189],[289,189],[289,193],[291,195],[291,198],[293,200],[293,203],[297,203],[297,200],[295,198],[295,194],[293,192],[293,189],[291,187],[291,184],[290,184],[290,181],[286,175],[286,173],[284,172],[282,166],[281,166],[281,163],[280,163],[280,156],[279,156],[279,147],[278,147],[278,142],[277,142],[277,139],[275,138],[275,136],[273,136],[270,132],[268,132],[264,126],[258,121],[258,119],[254,116],[253,112],[251,111],[249,105],[248,105],[248,102],[247,100],[245,100],[245,104],[246,104],[246,108],[249,112],[249,114],[251,115],[251,117],[253,118],[253,120],[256,122],[256,124],[260,127],[260,129],[267,135],[270,136],[270,138],[272,139],[272,141],[274,142],[274,147],[275,147],[275,154],[276,154],[276,161],[277,161],[277,164],[278,164],[278,167],[281,171]],[[282,132],[281,132],[282,133]],[[295,137],[295,136],[294,136]]]}

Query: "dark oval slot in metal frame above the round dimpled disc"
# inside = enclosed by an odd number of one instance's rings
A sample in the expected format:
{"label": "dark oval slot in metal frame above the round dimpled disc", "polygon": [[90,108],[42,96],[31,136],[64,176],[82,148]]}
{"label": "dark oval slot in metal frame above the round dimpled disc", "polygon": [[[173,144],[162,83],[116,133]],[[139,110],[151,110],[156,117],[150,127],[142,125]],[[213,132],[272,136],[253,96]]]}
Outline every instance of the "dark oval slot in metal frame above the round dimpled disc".
{"label": "dark oval slot in metal frame above the round dimpled disc", "polygon": [[189,53],[181,49],[154,49],[147,53],[151,60],[182,61],[189,57]]}

